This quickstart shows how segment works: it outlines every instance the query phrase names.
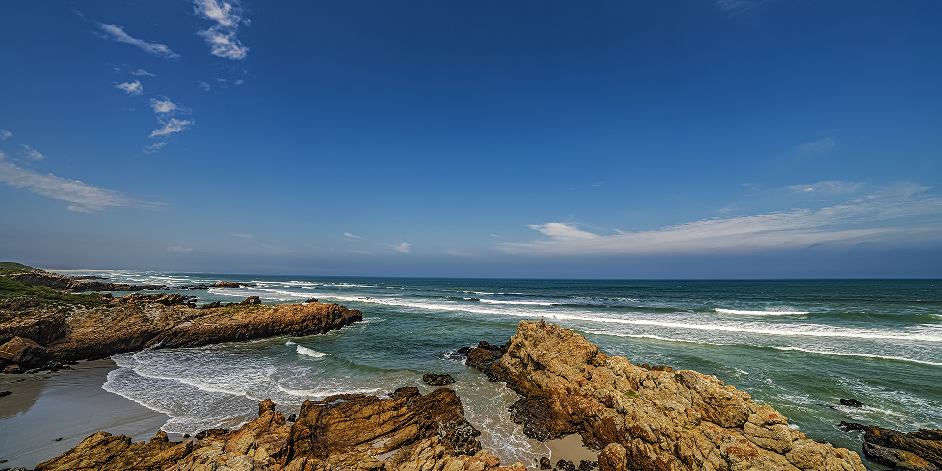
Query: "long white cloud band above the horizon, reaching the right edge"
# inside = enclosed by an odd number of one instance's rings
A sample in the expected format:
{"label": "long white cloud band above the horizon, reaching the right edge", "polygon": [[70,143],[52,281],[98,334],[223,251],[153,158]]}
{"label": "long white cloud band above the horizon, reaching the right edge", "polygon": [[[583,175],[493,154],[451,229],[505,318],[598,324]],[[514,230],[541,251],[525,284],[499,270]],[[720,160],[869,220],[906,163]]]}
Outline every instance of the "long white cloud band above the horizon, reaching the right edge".
{"label": "long white cloud band above the horizon, reaching the right edge", "polygon": [[939,219],[901,220],[942,215],[942,198],[921,194],[926,189],[900,184],[818,209],[705,219],[615,235],[583,231],[575,223],[547,222],[529,227],[548,235],[548,240],[501,243],[496,249],[530,255],[643,255],[755,252],[874,241],[897,245],[940,242]]}

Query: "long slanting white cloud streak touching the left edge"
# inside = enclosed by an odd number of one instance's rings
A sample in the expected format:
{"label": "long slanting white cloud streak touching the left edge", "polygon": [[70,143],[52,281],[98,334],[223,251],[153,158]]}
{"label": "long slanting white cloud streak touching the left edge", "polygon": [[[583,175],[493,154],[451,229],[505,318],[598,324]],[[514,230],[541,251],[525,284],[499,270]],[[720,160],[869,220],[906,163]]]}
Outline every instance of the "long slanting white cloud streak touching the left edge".
{"label": "long slanting white cloud streak touching the left edge", "polygon": [[0,152],[0,182],[10,187],[28,188],[38,195],[73,203],[69,205],[71,211],[90,213],[108,206],[155,207],[158,205],[124,196],[111,189],[60,178],[52,173],[43,175],[36,171],[21,169],[6,162],[5,158],[6,155]]}

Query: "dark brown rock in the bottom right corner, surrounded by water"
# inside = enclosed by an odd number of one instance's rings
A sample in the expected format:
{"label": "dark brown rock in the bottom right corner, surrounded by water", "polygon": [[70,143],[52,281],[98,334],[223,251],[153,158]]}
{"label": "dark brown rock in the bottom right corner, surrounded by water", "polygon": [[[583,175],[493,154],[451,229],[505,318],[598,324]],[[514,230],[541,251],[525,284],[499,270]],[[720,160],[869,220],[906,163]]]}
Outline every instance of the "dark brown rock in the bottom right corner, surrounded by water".
{"label": "dark brown rock in the bottom right corner, surrounded by water", "polygon": [[864,431],[864,454],[896,470],[942,469],[942,430],[919,429],[909,433],[841,422],[846,430]]}

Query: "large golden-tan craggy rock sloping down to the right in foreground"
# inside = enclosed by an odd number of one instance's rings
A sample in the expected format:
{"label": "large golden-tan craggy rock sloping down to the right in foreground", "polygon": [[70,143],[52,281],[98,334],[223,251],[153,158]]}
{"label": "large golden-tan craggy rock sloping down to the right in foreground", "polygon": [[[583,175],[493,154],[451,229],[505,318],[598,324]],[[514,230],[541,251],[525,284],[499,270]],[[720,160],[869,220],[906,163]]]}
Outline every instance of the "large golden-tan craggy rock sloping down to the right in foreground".
{"label": "large golden-tan craggy rock sloping down to the right in foreground", "polygon": [[866,470],[853,451],[806,439],[715,377],[631,365],[555,324],[521,321],[486,367],[524,396],[515,409],[525,432],[540,440],[580,433],[605,452],[604,471]]}

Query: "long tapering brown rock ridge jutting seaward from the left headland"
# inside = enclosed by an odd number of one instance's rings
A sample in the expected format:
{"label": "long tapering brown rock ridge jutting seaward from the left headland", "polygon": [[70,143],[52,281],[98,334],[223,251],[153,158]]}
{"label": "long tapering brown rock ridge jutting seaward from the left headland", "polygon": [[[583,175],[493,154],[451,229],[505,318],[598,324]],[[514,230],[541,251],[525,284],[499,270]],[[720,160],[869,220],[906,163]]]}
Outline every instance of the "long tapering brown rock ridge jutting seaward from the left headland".
{"label": "long tapering brown rock ridge jutting seaward from the left headland", "polygon": [[363,320],[336,304],[236,305],[201,310],[184,305],[118,303],[73,312],[69,333],[46,347],[60,360],[104,358],[148,347],[198,347],[276,335],[326,333]]}

